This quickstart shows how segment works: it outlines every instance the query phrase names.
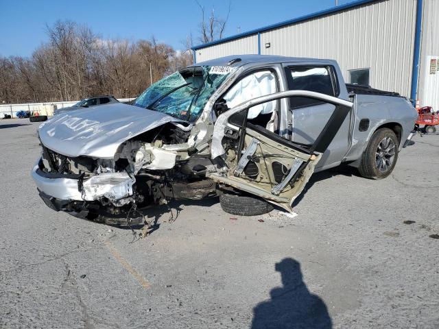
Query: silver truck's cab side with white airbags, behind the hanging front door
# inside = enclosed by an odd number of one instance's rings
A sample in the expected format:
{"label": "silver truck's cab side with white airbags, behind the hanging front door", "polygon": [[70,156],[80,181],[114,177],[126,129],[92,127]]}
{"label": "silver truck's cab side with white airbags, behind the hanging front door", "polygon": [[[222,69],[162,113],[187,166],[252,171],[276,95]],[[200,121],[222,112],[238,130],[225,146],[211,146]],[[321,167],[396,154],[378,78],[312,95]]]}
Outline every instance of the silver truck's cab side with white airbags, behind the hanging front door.
{"label": "silver truck's cab side with white airbags, behind the hanging front door", "polygon": [[[254,57],[259,58],[259,56]],[[350,99],[337,62],[267,57],[272,58],[272,64],[267,62],[259,64],[248,59],[250,62],[246,65],[248,68],[243,69],[233,86],[219,97],[217,103],[225,101],[227,108],[233,108],[255,97],[288,90],[307,90],[346,101]],[[235,56],[230,58],[232,61],[237,59]],[[224,58],[224,60],[228,59]],[[268,58],[265,60],[268,61]],[[257,113],[259,109],[261,112]],[[259,108],[253,108],[248,120],[249,123],[265,125],[266,128],[289,141],[310,145],[316,141],[334,109],[335,105],[319,99],[285,97],[263,104]],[[342,162],[349,147],[350,121],[351,115],[348,115],[318,163],[317,171],[335,167]]]}

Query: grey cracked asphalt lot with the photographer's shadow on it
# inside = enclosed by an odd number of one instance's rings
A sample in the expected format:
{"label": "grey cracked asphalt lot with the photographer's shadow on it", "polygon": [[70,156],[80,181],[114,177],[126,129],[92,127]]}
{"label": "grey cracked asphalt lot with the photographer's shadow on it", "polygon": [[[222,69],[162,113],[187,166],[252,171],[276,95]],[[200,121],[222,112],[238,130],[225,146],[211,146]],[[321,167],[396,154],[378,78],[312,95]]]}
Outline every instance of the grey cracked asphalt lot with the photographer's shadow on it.
{"label": "grey cracked asphalt lot with the photographer's shadow on it", "polygon": [[0,121],[0,328],[439,328],[439,136],[316,173],[294,218],[174,202],[135,239],[45,206],[37,127]]}

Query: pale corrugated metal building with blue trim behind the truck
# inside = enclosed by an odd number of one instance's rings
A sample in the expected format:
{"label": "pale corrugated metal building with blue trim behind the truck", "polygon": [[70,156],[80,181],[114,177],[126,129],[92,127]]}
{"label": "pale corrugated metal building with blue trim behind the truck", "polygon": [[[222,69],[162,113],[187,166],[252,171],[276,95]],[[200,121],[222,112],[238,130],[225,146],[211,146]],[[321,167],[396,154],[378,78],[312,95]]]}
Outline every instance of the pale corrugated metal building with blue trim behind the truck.
{"label": "pale corrugated metal building with blue trim behind the truck", "polygon": [[439,0],[355,1],[193,47],[194,61],[248,53],[334,59],[346,82],[351,70],[368,69],[373,88],[439,110],[438,97],[430,97],[439,95],[439,71],[427,76],[428,56],[439,61],[438,20]]}

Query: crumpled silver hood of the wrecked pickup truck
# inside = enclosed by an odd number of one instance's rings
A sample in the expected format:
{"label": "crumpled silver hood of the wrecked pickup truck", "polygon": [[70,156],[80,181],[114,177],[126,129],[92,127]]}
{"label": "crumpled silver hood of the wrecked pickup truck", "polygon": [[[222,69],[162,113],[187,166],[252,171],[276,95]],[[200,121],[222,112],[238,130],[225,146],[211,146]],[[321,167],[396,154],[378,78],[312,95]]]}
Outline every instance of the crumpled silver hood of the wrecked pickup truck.
{"label": "crumpled silver hood of the wrecked pickup truck", "polygon": [[38,128],[40,141],[64,156],[110,159],[121,143],[159,125],[181,121],[123,103],[58,114]]}

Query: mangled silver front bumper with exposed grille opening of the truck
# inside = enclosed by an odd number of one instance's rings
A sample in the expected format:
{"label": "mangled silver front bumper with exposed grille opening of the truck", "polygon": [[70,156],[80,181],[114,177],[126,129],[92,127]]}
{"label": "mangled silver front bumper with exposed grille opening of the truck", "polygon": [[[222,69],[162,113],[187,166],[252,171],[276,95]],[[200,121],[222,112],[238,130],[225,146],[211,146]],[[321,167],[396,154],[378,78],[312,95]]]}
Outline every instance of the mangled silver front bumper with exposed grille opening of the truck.
{"label": "mangled silver front bumper with exposed grille opening of the truck", "polygon": [[[43,146],[32,178],[47,206],[76,217],[123,223],[130,217],[132,204],[142,201],[134,176],[113,160],[70,158]],[[134,221],[141,218],[134,217]]]}

